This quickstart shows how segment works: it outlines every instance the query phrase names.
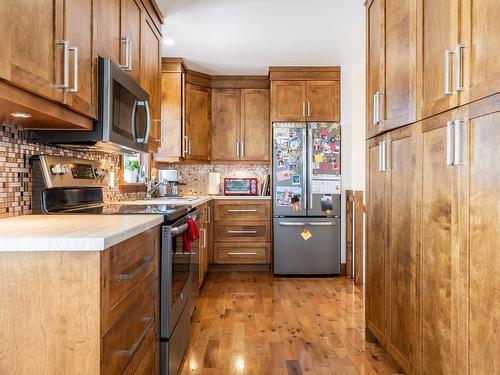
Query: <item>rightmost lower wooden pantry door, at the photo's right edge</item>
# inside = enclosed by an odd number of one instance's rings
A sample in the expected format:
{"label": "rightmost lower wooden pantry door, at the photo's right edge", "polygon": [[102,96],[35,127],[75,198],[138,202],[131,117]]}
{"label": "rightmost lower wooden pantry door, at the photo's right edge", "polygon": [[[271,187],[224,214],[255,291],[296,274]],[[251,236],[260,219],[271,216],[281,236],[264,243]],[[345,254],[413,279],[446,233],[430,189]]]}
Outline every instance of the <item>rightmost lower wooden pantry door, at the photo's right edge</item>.
{"label": "rightmost lower wooden pantry door, at the photo's right edge", "polygon": [[467,202],[469,197],[468,205],[463,204],[461,212],[463,217],[470,215],[469,220],[461,220],[459,230],[461,247],[466,248],[469,243],[469,251],[460,252],[461,263],[469,266],[468,272],[466,267],[461,271],[461,285],[469,282],[468,288],[462,288],[468,294],[464,297],[468,303],[461,304],[464,307],[460,310],[463,317],[468,313],[468,322],[460,321],[461,329],[468,328],[461,340],[468,353],[462,352],[461,358],[465,361],[468,358],[470,374],[499,374],[500,95],[470,105],[469,112],[461,114],[470,119],[468,124],[463,124],[465,137],[461,152],[466,161],[462,168],[468,167],[468,173],[461,174],[465,186],[462,202]]}

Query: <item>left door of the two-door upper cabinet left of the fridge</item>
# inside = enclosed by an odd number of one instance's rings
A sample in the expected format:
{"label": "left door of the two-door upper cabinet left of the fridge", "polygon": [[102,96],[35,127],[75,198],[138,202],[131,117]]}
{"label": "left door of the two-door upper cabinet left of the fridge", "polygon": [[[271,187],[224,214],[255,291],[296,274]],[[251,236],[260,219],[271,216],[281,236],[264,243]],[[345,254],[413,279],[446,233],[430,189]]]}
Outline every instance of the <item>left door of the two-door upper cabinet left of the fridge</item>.
{"label": "left door of the two-door upper cabinet left of the fridge", "polygon": [[241,156],[240,90],[212,90],[212,160],[232,161]]}

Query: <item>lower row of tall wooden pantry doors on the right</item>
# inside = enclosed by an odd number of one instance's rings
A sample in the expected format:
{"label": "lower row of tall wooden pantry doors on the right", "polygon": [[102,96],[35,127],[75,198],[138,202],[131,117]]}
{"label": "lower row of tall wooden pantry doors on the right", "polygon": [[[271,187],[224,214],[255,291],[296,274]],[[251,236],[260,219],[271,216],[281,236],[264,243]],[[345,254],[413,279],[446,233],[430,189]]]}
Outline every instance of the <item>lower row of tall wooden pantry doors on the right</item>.
{"label": "lower row of tall wooden pantry doors on the right", "polygon": [[368,141],[366,325],[407,373],[500,373],[499,121],[494,95]]}

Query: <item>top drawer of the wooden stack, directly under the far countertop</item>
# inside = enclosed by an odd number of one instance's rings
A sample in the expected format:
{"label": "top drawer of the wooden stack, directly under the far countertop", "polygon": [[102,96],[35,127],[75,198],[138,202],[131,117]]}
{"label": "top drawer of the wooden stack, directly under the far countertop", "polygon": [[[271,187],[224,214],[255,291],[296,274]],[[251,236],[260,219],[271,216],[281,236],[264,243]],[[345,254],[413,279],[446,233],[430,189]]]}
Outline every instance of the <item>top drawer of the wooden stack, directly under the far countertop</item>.
{"label": "top drawer of the wooden stack, directly under the far countertop", "polygon": [[271,203],[249,200],[215,201],[215,221],[257,221],[271,220]]}

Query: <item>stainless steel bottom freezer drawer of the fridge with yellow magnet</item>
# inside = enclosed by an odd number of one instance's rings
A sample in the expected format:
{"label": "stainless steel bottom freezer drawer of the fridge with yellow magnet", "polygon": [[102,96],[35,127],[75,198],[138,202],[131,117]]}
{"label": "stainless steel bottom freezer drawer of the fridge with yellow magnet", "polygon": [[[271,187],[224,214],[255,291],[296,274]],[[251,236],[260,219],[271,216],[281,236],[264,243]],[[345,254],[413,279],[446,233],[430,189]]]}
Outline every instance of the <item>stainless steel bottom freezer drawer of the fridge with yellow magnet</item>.
{"label": "stainless steel bottom freezer drawer of the fridge with yellow magnet", "polygon": [[[340,274],[340,218],[274,218],[275,275]],[[306,241],[301,233],[307,229]]]}

